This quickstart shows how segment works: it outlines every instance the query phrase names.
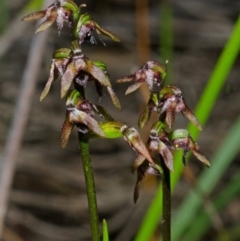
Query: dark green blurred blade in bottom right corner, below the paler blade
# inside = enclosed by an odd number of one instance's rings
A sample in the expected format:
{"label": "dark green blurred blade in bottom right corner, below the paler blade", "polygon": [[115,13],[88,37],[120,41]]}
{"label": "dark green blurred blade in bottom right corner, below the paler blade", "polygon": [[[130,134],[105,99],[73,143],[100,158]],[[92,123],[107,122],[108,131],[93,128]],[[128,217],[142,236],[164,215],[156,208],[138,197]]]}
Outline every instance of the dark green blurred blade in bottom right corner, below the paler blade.
{"label": "dark green blurred blade in bottom right corner, below the paler blade", "polygon": [[[232,180],[224,187],[223,191],[214,198],[213,205],[217,210],[223,209],[230,201],[240,194],[240,172],[238,172]],[[202,209],[198,210],[198,218],[194,219],[186,235],[182,238],[184,241],[201,240],[204,233],[210,228],[211,220],[207,213]],[[229,239],[228,239],[229,240]],[[232,240],[232,239],[230,239]]]}

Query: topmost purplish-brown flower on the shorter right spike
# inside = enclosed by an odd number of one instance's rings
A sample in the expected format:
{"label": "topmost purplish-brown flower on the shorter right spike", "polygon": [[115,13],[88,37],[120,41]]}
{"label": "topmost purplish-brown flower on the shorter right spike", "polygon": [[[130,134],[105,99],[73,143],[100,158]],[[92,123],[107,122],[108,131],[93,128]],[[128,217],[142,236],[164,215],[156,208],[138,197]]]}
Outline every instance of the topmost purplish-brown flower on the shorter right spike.
{"label": "topmost purplish-brown flower on the shorter right spike", "polygon": [[130,85],[126,91],[126,95],[137,90],[144,82],[147,83],[150,91],[153,90],[154,85],[160,90],[163,86],[166,77],[166,67],[155,61],[148,61],[134,74],[128,75],[117,80],[117,83],[129,82],[135,80],[133,85]]}

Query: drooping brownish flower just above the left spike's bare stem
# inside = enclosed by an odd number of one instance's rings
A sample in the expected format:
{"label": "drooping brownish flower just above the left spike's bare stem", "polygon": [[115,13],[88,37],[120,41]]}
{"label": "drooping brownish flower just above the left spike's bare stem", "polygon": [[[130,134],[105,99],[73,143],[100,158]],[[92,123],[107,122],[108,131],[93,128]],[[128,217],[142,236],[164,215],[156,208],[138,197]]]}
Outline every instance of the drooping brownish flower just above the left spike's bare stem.
{"label": "drooping brownish flower just above the left spike's bare stem", "polygon": [[77,90],[72,90],[66,100],[66,118],[62,127],[61,144],[66,147],[69,136],[74,126],[78,131],[86,134],[89,130],[96,133],[98,136],[105,137],[105,134],[94,116],[104,117],[98,110],[97,106],[90,101],[85,100],[81,93]]}

